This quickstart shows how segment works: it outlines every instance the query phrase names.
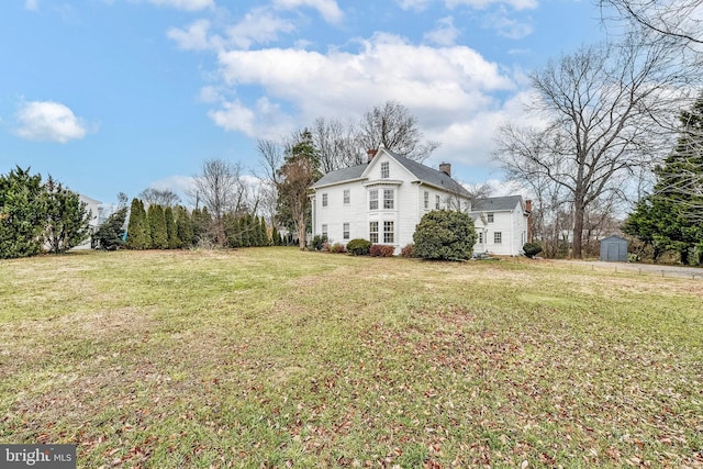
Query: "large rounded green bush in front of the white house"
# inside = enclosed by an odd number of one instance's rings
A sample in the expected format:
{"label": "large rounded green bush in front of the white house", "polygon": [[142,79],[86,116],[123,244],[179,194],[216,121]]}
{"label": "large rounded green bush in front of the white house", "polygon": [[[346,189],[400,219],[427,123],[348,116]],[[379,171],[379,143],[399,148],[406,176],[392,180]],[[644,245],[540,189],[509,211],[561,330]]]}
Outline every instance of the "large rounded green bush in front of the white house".
{"label": "large rounded green bush in front of the white house", "polygon": [[466,213],[434,210],[415,227],[414,254],[422,259],[466,260],[473,253],[476,237],[473,220]]}

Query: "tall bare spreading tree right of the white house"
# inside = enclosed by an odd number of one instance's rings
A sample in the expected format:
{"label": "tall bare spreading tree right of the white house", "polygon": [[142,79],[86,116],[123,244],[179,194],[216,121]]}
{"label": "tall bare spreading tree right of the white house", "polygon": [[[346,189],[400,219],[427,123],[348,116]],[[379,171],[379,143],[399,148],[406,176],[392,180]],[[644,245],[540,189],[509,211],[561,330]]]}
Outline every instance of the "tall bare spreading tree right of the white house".
{"label": "tall bare spreading tree right of the white house", "polygon": [[[584,216],[621,178],[650,165],[669,145],[676,90],[670,49],[629,35],[617,47],[584,46],[531,75],[537,94],[531,110],[543,130],[501,129],[494,156],[517,180],[549,181],[573,206],[573,257],[582,257]],[[666,125],[665,125],[666,124]]]}

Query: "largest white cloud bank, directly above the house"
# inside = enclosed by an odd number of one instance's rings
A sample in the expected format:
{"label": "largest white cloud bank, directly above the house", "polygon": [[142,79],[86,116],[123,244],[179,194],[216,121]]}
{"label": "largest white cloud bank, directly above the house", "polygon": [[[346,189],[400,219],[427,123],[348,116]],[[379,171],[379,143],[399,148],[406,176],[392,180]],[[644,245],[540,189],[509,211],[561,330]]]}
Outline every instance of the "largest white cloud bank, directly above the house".
{"label": "largest white cloud bank, directly above the house", "polygon": [[[355,122],[372,105],[398,100],[426,138],[442,143],[438,157],[486,163],[491,131],[514,111],[503,102],[517,88],[512,76],[462,45],[415,45],[389,34],[358,44],[356,52],[222,51],[221,88],[208,86],[201,97],[220,102],[209,115],[222,129],[271,138],[319,116]],[[223,98],[239,86],[259,88],[257,100]]]}

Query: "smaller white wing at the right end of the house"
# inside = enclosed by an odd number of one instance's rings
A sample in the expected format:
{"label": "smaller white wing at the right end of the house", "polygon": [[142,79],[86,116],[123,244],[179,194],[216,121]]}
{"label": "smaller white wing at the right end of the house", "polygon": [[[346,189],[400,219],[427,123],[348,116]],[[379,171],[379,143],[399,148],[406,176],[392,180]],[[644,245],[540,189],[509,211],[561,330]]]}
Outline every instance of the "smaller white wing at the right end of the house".
{"label": "smaller white wing at the right end of the house", "polygon": [[529,213],[532,202],[520,196],[490,197],[471,203],[478,241],[475,253],[505,256],[523,254],[523,245],[531,241]]}

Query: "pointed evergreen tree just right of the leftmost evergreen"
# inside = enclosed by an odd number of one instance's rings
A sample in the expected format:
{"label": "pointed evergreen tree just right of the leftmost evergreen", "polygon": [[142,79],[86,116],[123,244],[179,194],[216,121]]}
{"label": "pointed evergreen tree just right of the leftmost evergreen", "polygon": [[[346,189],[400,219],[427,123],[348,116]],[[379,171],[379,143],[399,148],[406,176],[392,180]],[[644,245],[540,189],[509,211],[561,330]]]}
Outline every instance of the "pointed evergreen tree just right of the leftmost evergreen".
{"label": "pointed evergreen tree just right of the leftmost evergreen", "polygon": [[45,238],[52,253],[65,253],[78,246],[90,234],[90,216],[86,203],[49,176],[44,185],[46,196]]}

